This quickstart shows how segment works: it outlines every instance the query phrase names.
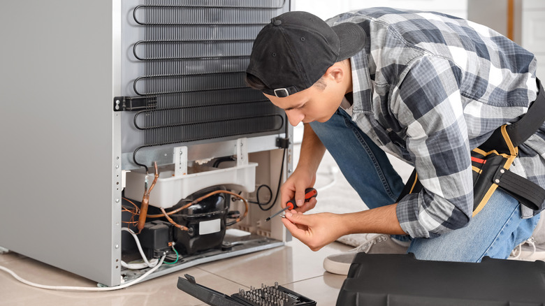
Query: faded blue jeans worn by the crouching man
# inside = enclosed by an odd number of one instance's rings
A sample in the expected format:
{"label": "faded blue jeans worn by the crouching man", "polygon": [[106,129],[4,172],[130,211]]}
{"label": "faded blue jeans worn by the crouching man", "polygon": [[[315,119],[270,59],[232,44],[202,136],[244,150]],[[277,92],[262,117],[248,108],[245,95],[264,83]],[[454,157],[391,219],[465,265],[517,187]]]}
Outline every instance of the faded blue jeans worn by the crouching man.
{"label": "faded blue jeans worn by the crouching man", "polygon": [[[369,208],[395,203],[403,182],[386,153],[339,109],[328,122],[312,122],[314,133],[333,156],[347,181]],[[530,238],[539,214],[521,218],[521,205],[497,189],[465,228],[437,238],[412,238],[408,252],[421,260],[479,262],[484,256],[507,258]],[[407,237],[395,237],[408,240]]]}

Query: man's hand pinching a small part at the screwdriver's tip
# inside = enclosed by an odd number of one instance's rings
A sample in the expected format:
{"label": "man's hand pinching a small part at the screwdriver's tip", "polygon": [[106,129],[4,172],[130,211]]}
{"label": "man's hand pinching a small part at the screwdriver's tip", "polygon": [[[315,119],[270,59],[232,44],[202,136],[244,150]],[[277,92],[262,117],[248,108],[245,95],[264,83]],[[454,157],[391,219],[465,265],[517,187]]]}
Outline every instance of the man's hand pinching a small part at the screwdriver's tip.
{"label": "man's hand pinching a small part at the screwdriver's tip", "polygon": [[303,214],[293,210],[286,212],[282,223],[312,251],[318,251],[345,234],[340,214],[324,212],[320,214]]}

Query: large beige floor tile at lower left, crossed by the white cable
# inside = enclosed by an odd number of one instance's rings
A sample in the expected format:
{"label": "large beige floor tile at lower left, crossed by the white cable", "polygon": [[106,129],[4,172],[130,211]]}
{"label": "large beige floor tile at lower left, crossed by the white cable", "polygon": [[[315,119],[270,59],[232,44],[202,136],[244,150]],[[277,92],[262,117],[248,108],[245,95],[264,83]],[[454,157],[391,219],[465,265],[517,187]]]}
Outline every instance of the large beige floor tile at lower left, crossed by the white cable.
{"label": "large beige floor tile at lower left, crossed by the white cable", "polygon": [[[34,261],[33,259],[10,261],[8,264],[4,264],[4,266],[13,270],[20,277],[37,284],[96,287],[96,282],[54,268],[51,265]],[[215,288],[217,291],[234,293],[240,288],[239,284],[235,284],[217,275],[212,275],[199,268],[185,269],[129,286],[126,289],[108,292],[72,292],[38,289],[22,284],[8,275],[8,273],[0,271],[0,305],[203,305],[201,300],[177,289],[178,277],[186,273],[196,277],[199,283],[202,282],[206,286]]]}

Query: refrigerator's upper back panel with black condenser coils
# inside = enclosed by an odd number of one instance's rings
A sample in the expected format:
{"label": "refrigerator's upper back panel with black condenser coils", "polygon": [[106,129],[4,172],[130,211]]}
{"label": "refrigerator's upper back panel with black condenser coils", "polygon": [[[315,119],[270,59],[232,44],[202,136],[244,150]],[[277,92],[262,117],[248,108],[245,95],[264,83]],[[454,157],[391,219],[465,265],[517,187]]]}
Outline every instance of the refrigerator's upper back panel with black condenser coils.
{"label": "refrigerator's upper back panel with black condenser coils", "polygon": [[284,0],[123,1],[122,151],[284,131],[284,112],[244,81],[254,38]]}

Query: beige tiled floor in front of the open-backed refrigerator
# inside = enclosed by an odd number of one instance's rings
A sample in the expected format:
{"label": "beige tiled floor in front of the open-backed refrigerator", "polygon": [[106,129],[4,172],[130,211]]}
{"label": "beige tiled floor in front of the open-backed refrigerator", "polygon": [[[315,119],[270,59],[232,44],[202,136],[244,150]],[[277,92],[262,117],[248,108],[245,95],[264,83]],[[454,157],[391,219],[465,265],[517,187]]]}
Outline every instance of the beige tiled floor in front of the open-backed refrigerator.
{"label": "beige tiled floor in front of the open-backed refrigerator", "polygon": [[[36,289],[22,284],[0,271],[0,305],[205,305],[200,300],[177,289],[177,278],[192,275],[198,284],[231,295],[238,289],[273,285],[275,282],[318,305],[335,305],[344,277],[322,268],[324,256],[350,249],[335,242],[312,252],[297,240],[254,254],[205,263],[156,279],[109,292],[67,292]],[[70,272],[40,263],[15,253],[1,254],[0,265],[20,277],[38,284],[52,286],[96,286],[96,283]]]}

